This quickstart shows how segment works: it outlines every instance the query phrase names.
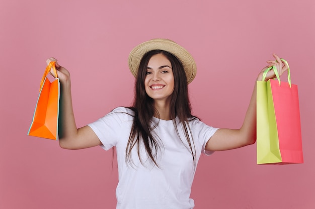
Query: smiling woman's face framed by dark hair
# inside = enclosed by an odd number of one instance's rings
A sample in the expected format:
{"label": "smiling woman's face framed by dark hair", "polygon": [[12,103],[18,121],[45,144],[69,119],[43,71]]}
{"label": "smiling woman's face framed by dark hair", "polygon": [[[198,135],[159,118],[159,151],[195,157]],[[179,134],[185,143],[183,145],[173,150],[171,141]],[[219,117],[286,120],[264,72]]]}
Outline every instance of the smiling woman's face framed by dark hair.
{"label": "smiling woman's face framed by dark hair", "polygon": [[171,62],[163,54],[153,55],[146,70],[145,92],[154,101],[169,101],[174,91],[174,75]]}

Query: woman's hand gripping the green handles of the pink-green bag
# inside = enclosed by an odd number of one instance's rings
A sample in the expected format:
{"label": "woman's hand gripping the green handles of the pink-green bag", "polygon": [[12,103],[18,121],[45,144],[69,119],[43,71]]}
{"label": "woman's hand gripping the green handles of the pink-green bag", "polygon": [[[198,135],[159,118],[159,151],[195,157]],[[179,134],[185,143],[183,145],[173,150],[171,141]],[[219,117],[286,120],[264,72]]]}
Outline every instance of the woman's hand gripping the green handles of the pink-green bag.
{"label": "woman's hand gripping the green handles of the pink-green bag", "polygon": [[[288,70],[288,66],[286,65],[285,62],[280,60],[280,58],[276,54],[272,54],[276,60],[268,60],[267,63],[269,63],[268,66],[266,66],[258,75],[257,81],[262,81],[263,79],[263,73],[267,68],[270,68],[271,66],[275,66],[277,68],[277,71],[279,73],[279,76],[281,76],[286,70]],[[266,79],[264,81],[268,81],[269,79],[275,78],[276,75],[273,72],[273,70],[268,71],[266,75]]]}

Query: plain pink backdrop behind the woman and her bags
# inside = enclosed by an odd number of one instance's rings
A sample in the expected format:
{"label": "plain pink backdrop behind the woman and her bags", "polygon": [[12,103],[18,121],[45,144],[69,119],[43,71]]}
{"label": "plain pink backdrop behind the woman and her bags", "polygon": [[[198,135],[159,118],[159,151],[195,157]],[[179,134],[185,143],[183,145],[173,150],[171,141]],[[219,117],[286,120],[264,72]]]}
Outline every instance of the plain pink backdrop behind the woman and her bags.
{"label": "plain pink backdrop behind the woman and her bags", "polygon": [[305,163],[257,165],[256,145],[202,156],[195,208],[315,208],[315,1],[1,0],[0,27],[0,208],[115,208],[112,151],[63,150],[27,131],[47,58],[71,72],[83,126],[131,104],[128,54],[152,38],[195,58],[193,113],[209,125],[241,126],[273,52],[299,88]]}

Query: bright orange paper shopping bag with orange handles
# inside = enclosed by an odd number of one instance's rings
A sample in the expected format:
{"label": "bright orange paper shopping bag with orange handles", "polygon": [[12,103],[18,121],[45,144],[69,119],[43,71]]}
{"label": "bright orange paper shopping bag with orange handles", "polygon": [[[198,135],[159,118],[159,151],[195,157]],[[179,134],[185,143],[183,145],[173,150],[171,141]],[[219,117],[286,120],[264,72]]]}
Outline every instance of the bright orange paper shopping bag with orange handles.
{"label": "bright orange paper shopping bag with orange handles", "polygon": [[[51,68],[56,77],[53,82],[47,78]],[[60,83],[57,78],[55,62],[50,62],[47,66],[39,92],[33,121],[27,135],[58,140]]]}

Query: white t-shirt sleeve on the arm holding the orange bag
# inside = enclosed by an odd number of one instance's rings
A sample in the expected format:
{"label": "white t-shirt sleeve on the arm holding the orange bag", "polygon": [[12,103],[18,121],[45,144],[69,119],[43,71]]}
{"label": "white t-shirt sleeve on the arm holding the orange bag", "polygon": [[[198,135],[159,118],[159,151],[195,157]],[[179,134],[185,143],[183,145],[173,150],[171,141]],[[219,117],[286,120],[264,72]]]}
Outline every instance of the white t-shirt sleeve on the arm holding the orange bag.
{"label": "white t-shirt sleeve on the arm holding the orange bag", "polygon": [[126,108],[118,107],[104,117],[88,124],[88,126],[92,128],[102,142],[101,147],[109,150],[118,143],[122,130],[126,128],[124,126],[125,122],[130,120],[130,117],[132,116],[130,116]]}

